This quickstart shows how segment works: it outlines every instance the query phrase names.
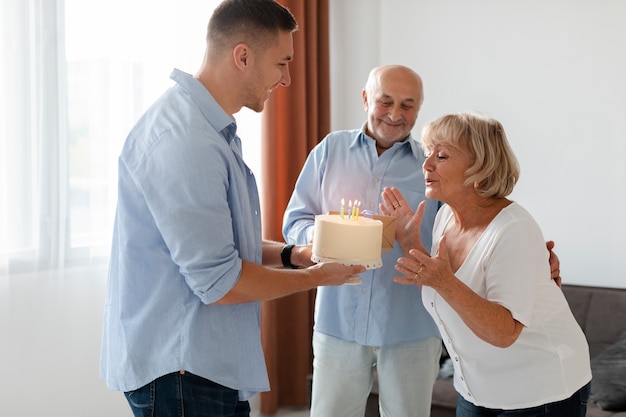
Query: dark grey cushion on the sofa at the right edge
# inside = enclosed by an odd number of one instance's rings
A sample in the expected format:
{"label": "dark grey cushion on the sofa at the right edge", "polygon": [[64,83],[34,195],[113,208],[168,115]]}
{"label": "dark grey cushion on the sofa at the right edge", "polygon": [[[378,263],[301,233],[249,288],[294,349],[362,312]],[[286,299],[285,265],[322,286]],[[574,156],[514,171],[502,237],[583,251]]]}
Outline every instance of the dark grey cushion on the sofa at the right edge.
{"label": "dark grey cushion on the sofa at the right edge", "polygon": [[590,398],[603,410],[626,411],[626,331],[591,360]]}

